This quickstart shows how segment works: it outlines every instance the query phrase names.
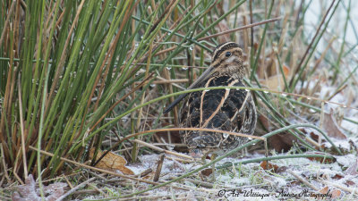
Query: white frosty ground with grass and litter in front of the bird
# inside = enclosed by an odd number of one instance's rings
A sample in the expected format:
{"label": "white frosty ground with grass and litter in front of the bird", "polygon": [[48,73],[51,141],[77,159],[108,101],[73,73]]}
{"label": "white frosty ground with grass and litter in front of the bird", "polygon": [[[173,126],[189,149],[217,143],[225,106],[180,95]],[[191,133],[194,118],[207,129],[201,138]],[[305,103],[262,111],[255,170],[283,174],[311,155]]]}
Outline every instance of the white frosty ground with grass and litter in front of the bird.
{"label": "white frosty ground with grass and litter in front of the bird", "polygon": [[[137,197],[153,200],[160,198],[186,200],[202,198],[227,198],[227,200],[300,198],[316,200],[317,197],[350,200],[358,198],[357,194],[354,195],[353,191],[349,191],[354,190],[358,184],[358,172],[349,169],[349,167],[357,167],[358,165],[355,155],[337,156],[336,162],[330,163],[320,163],[307,158],[286,158],[270,161],[269,164],[277,165],[278,170],[277,167],[272,169],[262,168],[260,163],[240,164],[247,158],[256,157],[264,157],[264,155],[247,155],[241,159],[226,158],[220,161],[216,164],[215,180],[212,178],[212,173],[209,175],[204,175],[202,172],[194,173],[183,180],[171,183],[166,187],[150,190]],[[159,155],[142,155],[141,163],[132,164],[128,167],[135,173],[152,169],[153,172],[145,177],[146,180],[152,180],[157,168],[158,158]],[[229,167],[220,168],[221,165],[228,163],[231,163]],[[201,163],[182,163],[166,157],[158,182],[173,180],[200,166]],[[300,179],[295,175],[298,175]],[[309,185],[316,189],[312,189]],[[131,180],[127,180],[127,186],[132,188],[123,190],[121,195],[151,187],[149,184]]]}

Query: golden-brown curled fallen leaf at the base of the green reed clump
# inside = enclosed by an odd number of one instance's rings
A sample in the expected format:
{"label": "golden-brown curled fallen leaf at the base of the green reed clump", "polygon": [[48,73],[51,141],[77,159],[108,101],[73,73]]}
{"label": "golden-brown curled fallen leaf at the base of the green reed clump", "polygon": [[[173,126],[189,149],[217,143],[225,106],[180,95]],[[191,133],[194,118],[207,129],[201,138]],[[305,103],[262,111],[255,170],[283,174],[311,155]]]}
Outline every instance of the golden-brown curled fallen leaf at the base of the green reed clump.
{"label": "golden-brown curled fallen leaf at the base of the green reed clump", "polygon": [[[90,149],[90,158],[93,158],[93,154],[95,152],[95,148]],[[102,151],[98,150],[98,154],[96,160],[102,155]],[[97,164],[96,167],[100,169],[104,169],[107,171],[120,171],[124,174],[133,175],[134,173],[125,167],[127,161],[121,155],[116,155],[113,152],[109,152],[105,157],[102,158]]]}

